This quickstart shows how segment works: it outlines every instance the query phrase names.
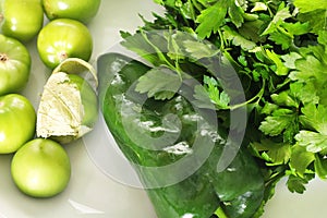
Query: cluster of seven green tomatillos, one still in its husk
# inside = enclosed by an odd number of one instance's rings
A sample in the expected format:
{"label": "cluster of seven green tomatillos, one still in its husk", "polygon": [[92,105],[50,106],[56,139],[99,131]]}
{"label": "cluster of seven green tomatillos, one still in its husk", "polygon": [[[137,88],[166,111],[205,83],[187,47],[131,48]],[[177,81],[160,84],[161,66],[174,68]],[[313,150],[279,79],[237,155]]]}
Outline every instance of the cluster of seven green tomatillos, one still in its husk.
{"label": "cluster of seven green tomatillos, one still in its husk", "polygon": [[[12,181],[28,196],[52,197],[68,186],[71,162],[63,145],[97,121],[87,24],[99,5],[100,0],[0,0],[0,158],[12,156]],[[35,46],[38,57],[27,46]],[[24,90],[41,83],[28,84],[34,58],[51,71],[41,96],[35,93],[37,111]]]}

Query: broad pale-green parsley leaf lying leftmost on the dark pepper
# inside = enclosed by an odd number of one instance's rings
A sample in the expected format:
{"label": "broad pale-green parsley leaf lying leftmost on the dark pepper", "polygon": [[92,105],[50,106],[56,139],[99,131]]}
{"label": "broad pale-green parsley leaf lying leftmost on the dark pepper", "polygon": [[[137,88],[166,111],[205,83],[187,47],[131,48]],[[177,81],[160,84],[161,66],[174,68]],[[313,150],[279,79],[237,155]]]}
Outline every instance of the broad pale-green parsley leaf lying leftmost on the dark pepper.
{"label": "broad pale-green parsley leaf lying leftmost on the dark pepper", "polygon": [[147,93],[148,97],[164,100],[170,99],[182,84],[181,78],[173,71],[165,68],[153,68],[138,78],[136,92]]}

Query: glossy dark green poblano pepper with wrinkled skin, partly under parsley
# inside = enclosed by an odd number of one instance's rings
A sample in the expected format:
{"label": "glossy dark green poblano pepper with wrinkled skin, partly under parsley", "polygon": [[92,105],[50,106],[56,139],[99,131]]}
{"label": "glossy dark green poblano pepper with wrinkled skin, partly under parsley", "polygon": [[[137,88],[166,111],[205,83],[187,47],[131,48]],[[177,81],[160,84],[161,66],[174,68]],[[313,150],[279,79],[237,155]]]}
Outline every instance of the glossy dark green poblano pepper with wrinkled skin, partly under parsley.
{"label": "glossy dark green poblano pepper with wrinkled skin, partly under parsley", "polygon": [[[220,133],[210,129],[205,113],[194,109],[182,95],[175,94],[170,100],[145,100],[134,90],[134,82],[148,70],[149,66],[144,63],[119,53],[106,53],[98,59],[99,100],[104,118],[126,158],[135,166],[143,166],[135,167],[135,170],[143,184],[149,187],[146,191],[157,216],[209,218],[219,209],[230,218],[254,217],[263,201],[264,179],[252,156],[241,149],[232,164],[218,173],[216,169],[223,148],[223,134],[217,140]],[[169,118],[172,118],[171,122]],[[165,119],[168,121],[164,122]],[[128,129],[126,123],[130,123]],[[152,128],[144,123],[152,123]],[[173,132],[175,128],[178,136],[167,136],[167,132]],[[214,131],[211,133],[217,137],[199,134],[204,129]],[[159,141],[154,140],[153,143],[154,137],[174,138],[175,144],[184,142],[192,152],[182,155],[169,153]],[[191,161],[186,161],[190,166],[183,168],[171,168],[162,173],[145,168],[173,165],[185,157],[190,157]],[[196,165],[196,161],[201,164]],[[173,181],[181,174],[187,174],[187,170],[192,172],[190,175],[160,186],[162,181]]]}

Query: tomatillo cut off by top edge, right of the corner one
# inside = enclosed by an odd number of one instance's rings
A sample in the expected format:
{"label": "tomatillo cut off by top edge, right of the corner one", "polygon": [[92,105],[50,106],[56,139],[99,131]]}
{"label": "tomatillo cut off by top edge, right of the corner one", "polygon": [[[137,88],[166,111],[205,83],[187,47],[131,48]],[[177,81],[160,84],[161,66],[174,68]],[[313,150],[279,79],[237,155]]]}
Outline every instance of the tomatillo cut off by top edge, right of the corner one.
{"label": "tomatillo cut off by top edge, right of the corner one", "polygon": [[49,20],[73,19],[87,24],[98,12],[100,0],[43,0]]}

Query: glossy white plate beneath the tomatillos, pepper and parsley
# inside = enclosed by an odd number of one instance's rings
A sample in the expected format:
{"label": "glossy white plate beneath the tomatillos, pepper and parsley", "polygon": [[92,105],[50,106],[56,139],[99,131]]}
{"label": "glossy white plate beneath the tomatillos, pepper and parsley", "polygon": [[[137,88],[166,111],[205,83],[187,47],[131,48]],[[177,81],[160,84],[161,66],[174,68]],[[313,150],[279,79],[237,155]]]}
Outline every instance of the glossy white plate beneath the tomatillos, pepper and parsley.
{"label": "glossy white plate beneath the tomatillos, pepper and parsley", "polygon": [[[159,11],[152,0],[102,0],[98,15],[89,24],[95,43],[92,62],[120,41],[119,31],[133,31],[142,25],[138,13],[152,17],[152,11]],[[43,86],[50,72],[38,59],[35,41],[27,46],[33,56],[33,69],[24,94],[37,108]],[[87,137],[66,146],[72,162],[70,184],[63,193],[48,199],[31,198],[20,193],[10,177],[12,156],[0,156],[0,218],[156,218],[142,189],[111,177],[112,174],[108,174],[99,166],[102,160],[96,156],[99,153],[95,150],[97,146],[106,146],[105,143],[112,145],[112,138],[100,120],[96,130]],[[89,150],[90,146],[95,149]],[[106,153],[101,154],[106,162]],[[110,170],[119,172],[125,167],[117,164]],[[131,178],[134,178],[133,174]],[[290,193],[284,181],[281,181],[263,217],[323,218],[326,201],[327,183],[314,180],[305,194],[299,195]]]}

